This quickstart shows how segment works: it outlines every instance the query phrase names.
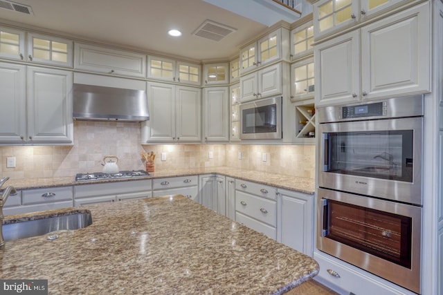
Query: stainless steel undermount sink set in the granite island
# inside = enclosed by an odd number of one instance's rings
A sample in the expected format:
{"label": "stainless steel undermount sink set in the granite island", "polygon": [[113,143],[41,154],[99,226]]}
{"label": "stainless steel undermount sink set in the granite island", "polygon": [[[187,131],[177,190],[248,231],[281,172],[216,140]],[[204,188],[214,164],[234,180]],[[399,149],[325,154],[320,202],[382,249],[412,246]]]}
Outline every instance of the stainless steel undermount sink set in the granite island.
{"label": "stainless steel undermount sink set in the granite island", "polygon": [[33,236],[42,236],[53,231],[74,230],[89,227],[92,224],[91,212],[75,212],[69,215],[54,216],[37,220],[28,220],[3,225],[4,240],[18,240]]}

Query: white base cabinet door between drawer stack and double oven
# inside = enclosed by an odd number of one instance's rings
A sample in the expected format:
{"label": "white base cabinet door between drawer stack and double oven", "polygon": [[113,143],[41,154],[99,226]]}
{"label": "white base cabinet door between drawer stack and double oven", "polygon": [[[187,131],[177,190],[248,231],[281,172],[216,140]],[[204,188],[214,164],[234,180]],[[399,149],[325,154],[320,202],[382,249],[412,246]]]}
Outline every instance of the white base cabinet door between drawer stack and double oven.
{"label": "white base cabinet door between drawer stack and double oven", "polygon": [[278,241],[308,256],[314,250],[314,196],[278,189]]}

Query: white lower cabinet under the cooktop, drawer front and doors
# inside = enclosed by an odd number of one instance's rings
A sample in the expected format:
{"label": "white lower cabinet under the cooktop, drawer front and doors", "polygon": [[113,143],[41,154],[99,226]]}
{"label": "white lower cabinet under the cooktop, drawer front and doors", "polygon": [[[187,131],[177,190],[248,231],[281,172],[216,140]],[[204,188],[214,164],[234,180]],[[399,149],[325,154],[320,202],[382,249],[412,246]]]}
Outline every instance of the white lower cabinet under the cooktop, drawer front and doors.
{"label": "white lower cabinet under the cooktop, drawer front and doors", "polygon": [[152,197],[152,180],[105,182],[73,187],[74,206]]}

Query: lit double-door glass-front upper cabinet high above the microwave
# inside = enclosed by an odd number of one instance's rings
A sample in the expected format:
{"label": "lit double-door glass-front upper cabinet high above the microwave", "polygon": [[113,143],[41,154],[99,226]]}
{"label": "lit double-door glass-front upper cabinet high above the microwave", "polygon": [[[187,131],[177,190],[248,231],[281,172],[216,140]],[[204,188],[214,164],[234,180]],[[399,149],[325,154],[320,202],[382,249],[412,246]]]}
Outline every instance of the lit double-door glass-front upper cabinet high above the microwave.
{"label": "lit double-door glass-front upper cabinet high above the microwave", "polygon": [[247,73],[279,59],[288,59],[289,32],[278,28],[240,50],[240,73]]}

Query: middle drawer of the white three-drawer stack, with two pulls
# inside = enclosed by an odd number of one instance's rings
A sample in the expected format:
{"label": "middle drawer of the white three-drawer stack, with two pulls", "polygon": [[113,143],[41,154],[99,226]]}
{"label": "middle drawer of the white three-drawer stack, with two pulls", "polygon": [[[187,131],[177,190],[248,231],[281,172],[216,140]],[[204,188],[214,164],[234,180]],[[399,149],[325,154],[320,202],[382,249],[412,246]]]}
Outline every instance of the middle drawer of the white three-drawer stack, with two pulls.
{"label": "middle drawer of the white three-drawer stack, with two pulls", "polygon": [[277,202],[237,191],[235,210],[275,227],[277,225]]}

